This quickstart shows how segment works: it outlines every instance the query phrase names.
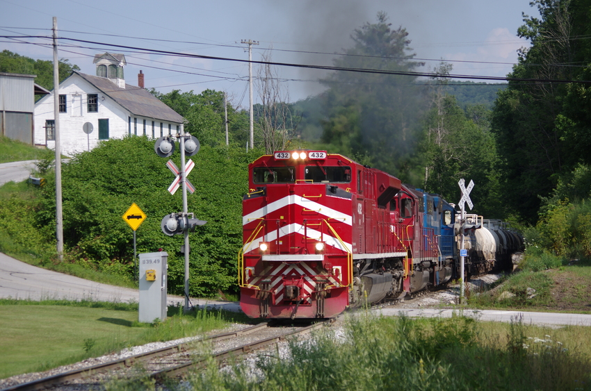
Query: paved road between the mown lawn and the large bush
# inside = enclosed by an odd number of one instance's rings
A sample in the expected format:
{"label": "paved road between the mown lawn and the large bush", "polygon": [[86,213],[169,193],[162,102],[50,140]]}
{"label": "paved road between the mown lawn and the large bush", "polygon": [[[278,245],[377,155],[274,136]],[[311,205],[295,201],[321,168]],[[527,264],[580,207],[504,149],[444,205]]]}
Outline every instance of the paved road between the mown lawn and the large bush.
{"label": "paved road between the mown lawn and the large bush", "polygon": [[[139,290],[95,283],[83,278],[42,269],[0,253],[0,298],[6,299],[90,299],[138,302]],[[183,297],[168,296],[168,303],[184,303]],[[194,306],[238,310],[238,303],[191,299]]]}

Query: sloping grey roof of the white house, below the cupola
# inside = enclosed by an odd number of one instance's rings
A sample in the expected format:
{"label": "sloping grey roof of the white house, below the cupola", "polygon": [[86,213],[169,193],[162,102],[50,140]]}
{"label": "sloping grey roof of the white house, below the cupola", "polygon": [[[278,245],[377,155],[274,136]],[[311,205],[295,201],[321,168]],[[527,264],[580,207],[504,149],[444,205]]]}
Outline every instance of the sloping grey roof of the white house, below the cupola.
{"label": "sloping grey roof of the white house, below the cupola", "polygon": [[166,106],[160,99],[154,97],[154,95],[150,94],[144,88],[127,83],[125,84],[125,88],[119,88],[108,78],[91,76],[76,71],[72,71],[72,74],[77,74],[88,81],[88,83],[94,85],[103,94],[129,110],[132,115],[162,119],[179,124],[182,124],[184,121],[184,118],[179,113]]}

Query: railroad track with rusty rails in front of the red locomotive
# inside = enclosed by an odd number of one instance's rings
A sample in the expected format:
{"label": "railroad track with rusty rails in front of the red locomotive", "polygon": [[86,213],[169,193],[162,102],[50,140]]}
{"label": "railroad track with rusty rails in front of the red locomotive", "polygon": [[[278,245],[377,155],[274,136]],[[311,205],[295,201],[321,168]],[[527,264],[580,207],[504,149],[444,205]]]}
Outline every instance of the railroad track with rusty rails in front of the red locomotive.
{"label": "railroad track with rusty rails in front of the red locomotive", "polygon": [[[227,358],[238,358],[270,344],[277,344],[289,336],[309,333],[323,324],[324,322],[318,322],[309,326],[275,327],[275,322],[264,322],[240,331],[213,335],[193,342],[175,344],[120,360],[12,385],[0,391],[83,390],[85,388],[96,390],[106,381],[117,378],[133,381],[133,378],[146,376],[160,383],[166,378],[182,376],[192,369],[204,366],[211,354],[200,355],[199,352],[204,350],[203,347],[206,344],[211,344],[213,358],[221,362]],[[224,343],[229,340],[232,341],[231,347]]]}

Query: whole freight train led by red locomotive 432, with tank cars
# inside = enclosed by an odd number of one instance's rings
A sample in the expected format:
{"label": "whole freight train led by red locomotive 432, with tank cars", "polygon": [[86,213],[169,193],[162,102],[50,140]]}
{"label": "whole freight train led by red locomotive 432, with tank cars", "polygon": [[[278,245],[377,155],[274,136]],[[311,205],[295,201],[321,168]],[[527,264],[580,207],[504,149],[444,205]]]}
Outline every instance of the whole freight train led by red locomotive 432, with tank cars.
{"label": "whole freight train led by red locomotive 432, with tank cars", "polygon": [[277,151],[249,166],[238,253],[249,317],[325,318],[505,267],[519,237],[390,174],[326,151]]}

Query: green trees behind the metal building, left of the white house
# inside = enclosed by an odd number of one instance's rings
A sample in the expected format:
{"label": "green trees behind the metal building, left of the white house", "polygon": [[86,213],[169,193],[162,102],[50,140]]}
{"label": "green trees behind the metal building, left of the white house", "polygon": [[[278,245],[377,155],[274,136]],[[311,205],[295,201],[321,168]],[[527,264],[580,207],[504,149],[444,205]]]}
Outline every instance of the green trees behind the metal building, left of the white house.
{"label": "green trees behind the metal building, left of the white house", "polygon": [[[58,65],[60,83],[72,71],[79,71],[78,65],[70,64],[70,61],[62,58]],[[34,74],[35,83],[47,90],[54,89],[54,63],[47,60],[33,60],[33,58],[19,56],[12,51],[3,50],[0,52],[0,72],[10,74]]]}

